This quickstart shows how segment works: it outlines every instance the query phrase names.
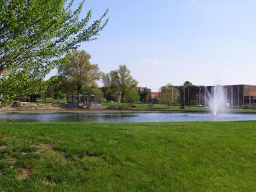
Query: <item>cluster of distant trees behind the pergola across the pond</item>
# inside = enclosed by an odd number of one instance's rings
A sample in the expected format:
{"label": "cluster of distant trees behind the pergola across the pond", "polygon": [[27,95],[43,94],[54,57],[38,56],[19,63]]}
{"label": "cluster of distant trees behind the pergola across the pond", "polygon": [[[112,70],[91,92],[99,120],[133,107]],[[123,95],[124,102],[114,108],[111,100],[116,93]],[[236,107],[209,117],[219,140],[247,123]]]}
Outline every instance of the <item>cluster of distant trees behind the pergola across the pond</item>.
{"label": "cluster of distant trees behind the pergola across the pond", "polygon": [[[127,66],[120,65],[116,70],[102,73],[98,64],[90,63],[90,58],[90,54],[84,50],[67,53],[65,62],[57,67],[58,74],[47,81],[38,80],[33,89],[40,90],[37,94],[30,95],[30,98],[35,100],[43,95],[44,99],[66,99],[69,93],[97,95],[98,102],[106,99],[109,102],[136,103],[140,98],[146,102],[145,97],[148,98],[148,93],[140,95],[137,90],[138,82],[131,76]],[[102,82],[102,87],[98,86],[99,81]],[[44,91],[40,88],[42,84],[45,84]]]}

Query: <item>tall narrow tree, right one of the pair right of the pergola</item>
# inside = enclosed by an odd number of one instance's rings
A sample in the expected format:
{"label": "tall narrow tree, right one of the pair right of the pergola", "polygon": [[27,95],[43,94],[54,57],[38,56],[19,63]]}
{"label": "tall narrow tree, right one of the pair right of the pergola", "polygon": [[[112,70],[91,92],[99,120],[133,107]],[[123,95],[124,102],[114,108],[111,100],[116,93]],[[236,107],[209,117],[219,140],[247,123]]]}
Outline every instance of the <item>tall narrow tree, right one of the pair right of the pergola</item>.
{"label": "tall narrow tree, right one of the pair right of the pergola", "polygon": [[131,71],[127,69],[126,65],[119,66],[117,71],[119,77],[119,92],[121,92],[122,95],[125,95],[125,92],[133,87],[136,87],[138,82],[132,78]]}

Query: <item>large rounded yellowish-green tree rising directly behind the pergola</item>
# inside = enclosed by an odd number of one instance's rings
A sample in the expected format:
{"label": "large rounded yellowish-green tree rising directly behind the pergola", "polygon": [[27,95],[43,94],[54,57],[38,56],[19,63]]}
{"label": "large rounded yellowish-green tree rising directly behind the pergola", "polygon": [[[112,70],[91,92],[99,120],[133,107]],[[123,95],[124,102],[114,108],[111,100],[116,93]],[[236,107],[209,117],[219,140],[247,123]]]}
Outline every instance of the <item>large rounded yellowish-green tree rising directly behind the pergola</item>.
{"label": "large rounded yellowish-green tree rising directly behind the pergola", "polygon": [[97,64],[90,63],[90,55],[85,51],[73,50],[66,55],[67,63],[59,66],[59,73],[70,82],[76,84],[77,93],[82,93],[86,87],[96,84],[101,73]]}

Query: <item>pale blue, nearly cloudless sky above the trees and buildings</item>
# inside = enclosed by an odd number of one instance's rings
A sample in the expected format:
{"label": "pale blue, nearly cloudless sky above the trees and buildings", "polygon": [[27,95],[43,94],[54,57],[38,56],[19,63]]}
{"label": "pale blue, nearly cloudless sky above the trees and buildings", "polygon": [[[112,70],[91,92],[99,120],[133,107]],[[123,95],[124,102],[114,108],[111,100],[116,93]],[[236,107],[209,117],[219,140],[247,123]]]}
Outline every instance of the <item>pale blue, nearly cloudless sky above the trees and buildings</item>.
{"label": "pale blue, nearly cloudless sky above the trees and buildings", "polygon": [[255,0],[87,0],[82,17],[93,9],[97,19],[106,8],[105,30],[79,48],[101,71],[126,64],[153,91],[186,80],[256,84]]}

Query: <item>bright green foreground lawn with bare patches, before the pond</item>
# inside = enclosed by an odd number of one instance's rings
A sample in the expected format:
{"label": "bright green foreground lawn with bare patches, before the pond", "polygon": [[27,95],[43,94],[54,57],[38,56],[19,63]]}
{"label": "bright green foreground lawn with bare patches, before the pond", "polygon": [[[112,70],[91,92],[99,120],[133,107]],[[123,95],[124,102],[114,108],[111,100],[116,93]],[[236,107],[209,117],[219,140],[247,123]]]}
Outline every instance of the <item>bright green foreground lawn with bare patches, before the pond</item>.
{"label": "bright green foreground lawn with bare patches, before the pond", "polygon": [[256,191],[256,122],[0,123],[0,191]]}

